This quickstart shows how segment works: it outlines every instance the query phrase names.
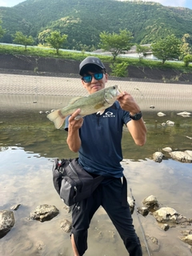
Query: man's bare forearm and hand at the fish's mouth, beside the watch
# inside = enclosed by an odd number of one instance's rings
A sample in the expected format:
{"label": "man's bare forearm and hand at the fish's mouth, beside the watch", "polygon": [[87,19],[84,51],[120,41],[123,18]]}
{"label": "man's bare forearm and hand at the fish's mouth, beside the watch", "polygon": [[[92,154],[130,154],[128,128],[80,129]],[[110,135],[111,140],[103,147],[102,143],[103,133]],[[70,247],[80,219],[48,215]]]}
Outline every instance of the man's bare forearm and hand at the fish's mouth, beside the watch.
{"label": "man's bare forearm and hand at the fish's mouth, beside the watch", "polygon": [[[132,117],[141,111],[134,98],[126,92],[122,97],[118,98],[118,102],[120,103],[122,110],[129,111]],[[143,122],[143,119],[131,119],[130,122],[126,123],[126,126],[130,131],[135,144],[143,146],[146,143],[146,125]]]}

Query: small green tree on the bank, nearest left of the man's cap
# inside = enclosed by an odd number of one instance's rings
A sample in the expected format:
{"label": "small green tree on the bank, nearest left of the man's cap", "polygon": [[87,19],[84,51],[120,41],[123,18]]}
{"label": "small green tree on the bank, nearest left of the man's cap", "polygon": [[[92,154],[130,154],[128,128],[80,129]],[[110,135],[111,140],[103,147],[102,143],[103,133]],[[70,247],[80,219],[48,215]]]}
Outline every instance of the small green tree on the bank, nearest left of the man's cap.
{"label": "small green tree on the bank, nearest left of the man's cap", "polygon": [[67,40],[67,35],[61,33],[59,31],[53,31],[50,33],[50,36],[46,38],[46,42],[49,42],[50,46],[53,47],[57,54],[58,50],[61,48],[62,44]]}

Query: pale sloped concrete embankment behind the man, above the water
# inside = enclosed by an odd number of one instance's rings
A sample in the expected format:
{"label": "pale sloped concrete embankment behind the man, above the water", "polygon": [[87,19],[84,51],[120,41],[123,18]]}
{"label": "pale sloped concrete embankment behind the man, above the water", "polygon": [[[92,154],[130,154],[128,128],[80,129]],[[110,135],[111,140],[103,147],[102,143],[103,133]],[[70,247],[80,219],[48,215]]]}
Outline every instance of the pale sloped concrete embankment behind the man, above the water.
{"label": "pale sloped concrete embankment behind the man, above the water", "polygon": [[[161,102],[162,110],[192,110],[192,85],[111,80],[106,86],[114,84],[132,94],[146,110],[151,105],[159,106],[157,102]],[[55,108],[65,106],[72,96],[84,95],[86,90],[79,78],[0,74],[0,106],[3,108],[13,105],[34,108],[37,101],[41,107]]]}

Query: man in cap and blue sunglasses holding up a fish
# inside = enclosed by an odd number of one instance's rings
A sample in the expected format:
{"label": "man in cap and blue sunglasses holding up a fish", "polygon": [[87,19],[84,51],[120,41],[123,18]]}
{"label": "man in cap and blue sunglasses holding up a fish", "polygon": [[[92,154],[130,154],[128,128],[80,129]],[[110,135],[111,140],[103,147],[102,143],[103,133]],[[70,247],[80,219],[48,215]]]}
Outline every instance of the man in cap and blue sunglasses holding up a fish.
{"label": "man in cap and blue sunglasses holding up a fish", "polygon": [[[103,89],[108,80],[105,66],[95,57],[87,57],[80,63],[79,74],[82,76],[82,86],[89,94]],[[102,115],[90,114],[75,120],[80,111],[76,110],[66,120],[66,142],[70,150],[78,152],[78,162],[87,172],[94,177],[102,175],[105,179],[90,198],[73,207],[71,243],[74,256],[82,256],[87,250],[87,230],[99,206],[106,210],[130,256],[141,256],[142,249],[132,224],[129,205],[122,202],[123,168],[120,162],[124,124],[138,146],[143,146],[146,142],[142,112],[127,92],[118,97],[118,101]],[[107,113],[112,113],[112,117]],[[127,194],[124,196],[127,197]]]}

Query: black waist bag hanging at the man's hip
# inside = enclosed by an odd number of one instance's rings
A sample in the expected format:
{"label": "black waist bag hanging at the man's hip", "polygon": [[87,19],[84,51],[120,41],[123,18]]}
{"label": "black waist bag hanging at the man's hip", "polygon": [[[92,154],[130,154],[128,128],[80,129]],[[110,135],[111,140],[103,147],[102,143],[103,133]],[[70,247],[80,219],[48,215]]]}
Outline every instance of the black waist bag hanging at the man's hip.
{"label": "black waist bag hanging at the man's hip", "polygon": [[72,206],[82,199],[89,198],[90,194],[102,182],[104,177],[94,178],[78,163],[78,158],[54,159],[53,181],[62,201]]}

